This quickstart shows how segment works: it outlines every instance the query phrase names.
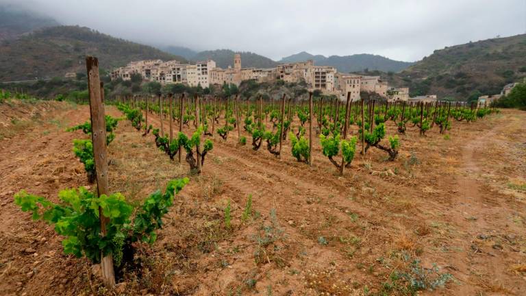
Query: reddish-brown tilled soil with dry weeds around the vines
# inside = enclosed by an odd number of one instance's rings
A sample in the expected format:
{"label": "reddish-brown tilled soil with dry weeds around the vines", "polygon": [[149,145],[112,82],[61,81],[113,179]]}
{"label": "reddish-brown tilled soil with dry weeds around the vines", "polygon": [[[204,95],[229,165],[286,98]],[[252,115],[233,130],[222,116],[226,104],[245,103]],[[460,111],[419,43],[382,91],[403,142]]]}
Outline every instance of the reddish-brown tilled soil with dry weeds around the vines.
{"label": "reddish-brown tilled soil with dry weeds around the vines", "polygon": [[[153,135],[121,121],[109,147],[113,192],[140,201],[173,178],[190,184],[158,241],[141,246],[141,271],[107,290],[87,260],[62,253],[53,227],[13,204],[18,190],[57,201],[59,190],[88,185],[71,151],[73,138],[86,136],[64,132],[89,119],[88,107],[40,104],[38,116],[18,110],[27,106],[0,108],[20,117],[0,127],[2,295],[403,295],[408,280],[435,266],[442,277],[423,282],[446,284],[424,294],[526,295],[526,112],[455,121],[448,136],[409,128],[395,162],[371,149],[342,177],[318,140],[309,167],[288,140],[276,158],[265,145],[253,151],[246,132],[248,145],[239,146],[236,130],[227,141],[214,135],[203,174],[189,175]],[[155,114],[149,122],[160,125]],[[14,125],[19,131],[8,132]],[[243,221],[249,195],[253,212]]]}

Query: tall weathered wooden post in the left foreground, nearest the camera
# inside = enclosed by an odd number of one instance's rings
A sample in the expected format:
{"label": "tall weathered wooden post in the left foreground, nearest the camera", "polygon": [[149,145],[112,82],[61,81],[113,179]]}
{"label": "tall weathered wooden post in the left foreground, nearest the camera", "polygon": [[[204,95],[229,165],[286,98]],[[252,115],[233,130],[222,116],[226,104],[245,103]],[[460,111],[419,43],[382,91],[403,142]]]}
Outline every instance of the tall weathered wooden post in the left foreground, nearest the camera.
{"label": "tall weathered wooden post in the left foreground, nearest the camera", "polygon": [[[88,56],[86,58],[86,70],[88,71],[88,91],[90,94],[90,117],[91,117],[91,140],[93,143],[93,156],[95,158],[95,172],[97,175],[97,195],[108,195],[108,157],[106,155],[106,125],[104,117],[104,105],[102,103],[103,90],[99,79],[99,60]],[[101,221],[101,236],[106,235],[106,224],[110,219],[104,217],[102,208],[99,208],[99,219]],[[104,284],[115,285],[112,255],[104,256],[101,253],[101,269]]]}

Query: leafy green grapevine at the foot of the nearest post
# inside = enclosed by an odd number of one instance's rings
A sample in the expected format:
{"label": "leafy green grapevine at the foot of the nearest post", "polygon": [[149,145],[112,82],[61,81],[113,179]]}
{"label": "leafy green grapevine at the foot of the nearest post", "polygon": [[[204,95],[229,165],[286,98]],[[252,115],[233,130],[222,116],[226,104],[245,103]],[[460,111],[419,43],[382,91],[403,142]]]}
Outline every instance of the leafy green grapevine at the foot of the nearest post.
{"label": "leafy green grapevine at the foot of the nearest post", "polygon": [[[121,265],[123,251],[133,249],[132,243],[155,242],[156,230],[162,227],[162,217],[173,204],[175,194],[188,184],[188,178],[171,180],[164,193],[155,191],[136,210],[121,193],[97,197],[84,187],[60,191],[60,204],[26,193],[16,193],[14,204],[24,212],[32,212],[33,219],[55,225],[55,232],[64,236],[64,253],[86,256],[91,262],[101,262],[103,256],[112,255],[114,264]],[[106,224],[106,235],[101,236],[99,208]]]}

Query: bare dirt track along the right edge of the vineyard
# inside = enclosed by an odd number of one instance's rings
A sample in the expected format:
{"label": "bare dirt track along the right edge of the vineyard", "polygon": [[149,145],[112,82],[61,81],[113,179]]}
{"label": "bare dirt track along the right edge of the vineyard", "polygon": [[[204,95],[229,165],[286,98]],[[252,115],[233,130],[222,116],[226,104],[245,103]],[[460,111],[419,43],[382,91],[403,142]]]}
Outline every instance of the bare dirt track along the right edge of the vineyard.
{"label": "bare dirt track along the right edge of the vineyard", "polygon": [[[505,145],[497,135],[521,132],[516,128],[517,123],[510,120],[494,125],[462,148],[460,175],[447,211],[447,216],[458,226],[459,236],[453,245],[462,250],[453,253],[449,265],[458,271],[455,276],[460,281],[460,295],[476,295],[481,293],[481,288],[499,294],[526,293],[523,280],[509,276],[513,264],[524,262],[524,255],[516,248],[516,238],[524,236],[524,228],[509,221],[509,214],[516,212],[518,205],[510,203],[508,195],[491,190],[495,180],[481,177],[497,174],[497,167],[481,158],[481,151]],[[519,124],[526,125],[526,121],[522,118]],[[508,158],[503,160],[512,161],[512,151],[494,151],[493,154],[506,152]]]}

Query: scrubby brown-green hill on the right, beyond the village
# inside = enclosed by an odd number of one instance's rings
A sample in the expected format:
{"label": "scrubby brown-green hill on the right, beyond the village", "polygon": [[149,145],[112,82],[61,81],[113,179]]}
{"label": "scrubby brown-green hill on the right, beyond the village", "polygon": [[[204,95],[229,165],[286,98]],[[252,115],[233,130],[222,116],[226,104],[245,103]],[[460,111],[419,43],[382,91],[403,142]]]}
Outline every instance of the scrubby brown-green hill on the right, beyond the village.
{"label": "scrubby brown-green hill on the right, beyond the village", "polygon": [[518,34],[436,49],[391,80],[410,87],[412,95],[465,98],[500,93],[505,84],[524,77],[526,34]]}

